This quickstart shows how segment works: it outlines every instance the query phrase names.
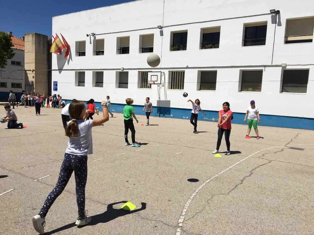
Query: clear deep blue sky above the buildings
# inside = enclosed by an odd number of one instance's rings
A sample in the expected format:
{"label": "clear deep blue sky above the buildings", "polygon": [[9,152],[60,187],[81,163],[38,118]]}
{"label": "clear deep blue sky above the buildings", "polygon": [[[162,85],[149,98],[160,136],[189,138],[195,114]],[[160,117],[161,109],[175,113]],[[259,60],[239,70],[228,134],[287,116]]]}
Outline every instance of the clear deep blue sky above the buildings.
{"label": "clear deep blue sky above the buildings", "polygon": [[132,0],[4,0],[1,2],[0,31],[13,32],[16,37],[40,33],[51,37],[52,17]]}

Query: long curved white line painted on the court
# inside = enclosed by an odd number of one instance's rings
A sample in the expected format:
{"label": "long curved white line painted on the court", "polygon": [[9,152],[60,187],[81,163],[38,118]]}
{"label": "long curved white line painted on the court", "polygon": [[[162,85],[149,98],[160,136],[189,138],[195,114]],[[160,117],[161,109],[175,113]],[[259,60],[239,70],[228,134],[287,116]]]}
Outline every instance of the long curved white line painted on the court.
{"label": "long curved white line painted on the court", "polygon": [[262,152],[262,151],[265,151],[265,150],[268,150],[268,149],[275,149],[275,148],[280,148],[280,147],[289,147],[289,146],[299,146],[299,145],[314,145],[314,144],[292,144],[292,145],[282,145],[282,146],[276,146],[276,147],[270,147],[270,148],[267,148],[267,149],[262,149],[262,150],[259,150],[249,156],[247,156],[246,158],[243,158],[241,159],[240,161],[236,162],[235,164],[229,166],[227,169],[219,172],[217,175],[214,175],[212,178],[206,180],[203,184],[201,184],[193,193],[192,195],[189,197],[189,200],[187,200],[187,202],[185,203],[184,205],[184,208],[182,210],[182,213],[181,213],[181,216],[180,216],[180,219],[179,219],[179,222],[178,222],[178,228],[176,230],[176,235],[181,235],[181,232],[182,232],[182,226],[183,226],[183,222],[184,222],[184,219],[185,219],[185,215],[187,213],[187,209],[189,208],[189,206],[191,205],[191,202],[192,200],[194,199],[194,197],[196,196],[196,194],[211,180],[215,179],[216,177],[218,177],[219,175],[225,173],[227,170],[230,170],[232,167],[238,165],[239,163],[243,162],[244,160],[248,159],[249,157],[252,157],[253,155],[259,153],[259,152]]}

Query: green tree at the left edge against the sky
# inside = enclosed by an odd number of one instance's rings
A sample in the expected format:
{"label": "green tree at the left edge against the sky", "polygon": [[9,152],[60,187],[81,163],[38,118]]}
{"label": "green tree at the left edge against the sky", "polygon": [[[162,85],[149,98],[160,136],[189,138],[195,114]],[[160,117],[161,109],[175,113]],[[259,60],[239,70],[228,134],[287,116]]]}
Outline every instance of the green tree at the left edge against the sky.
{"label": "green tree at the left edge against the sky", "polygon": [[10,34],[0,32],[0,68],[4,69],[7,66],[7,60],[13,58],[13,44]]}

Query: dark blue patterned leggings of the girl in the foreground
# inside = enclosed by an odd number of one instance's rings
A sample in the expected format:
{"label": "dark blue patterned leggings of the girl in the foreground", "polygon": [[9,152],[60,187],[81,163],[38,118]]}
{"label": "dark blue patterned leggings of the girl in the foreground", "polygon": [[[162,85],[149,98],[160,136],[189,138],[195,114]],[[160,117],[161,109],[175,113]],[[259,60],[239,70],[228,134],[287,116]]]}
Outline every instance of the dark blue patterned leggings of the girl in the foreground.
{"label": "dark blue patterned leggings of the girl in the foreground", "polygon": [[67,186],[74,170],[76,202],[78,204],[78,217],[85,217],[85,185],[87,180],[87,156],[64,154],[59,179],[56,187],[49,193],[47,199],[38,213],[42,218],[46,217],[48,210]]}

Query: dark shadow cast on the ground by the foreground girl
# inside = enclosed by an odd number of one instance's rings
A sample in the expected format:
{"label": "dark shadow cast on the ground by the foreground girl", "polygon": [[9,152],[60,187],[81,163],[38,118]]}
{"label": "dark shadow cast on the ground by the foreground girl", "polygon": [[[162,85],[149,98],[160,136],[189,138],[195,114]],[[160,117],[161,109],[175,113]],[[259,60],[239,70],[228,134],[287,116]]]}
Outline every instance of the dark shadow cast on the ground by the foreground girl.
{"label": "dark shadow cast on the ground by the foreground girl", "polygon": [[[96,225],[99,223],[107,223],[107,222],[114,220],[118,217],[125,216],[128,214],[132,214],[132,213],[139,212],[139,211],[146,209],[146,203],[145,202],[141,203],[142,204],[141,208],[133,210],[133,211],[126,211],[122,208],[121,209],[114,209],[113,208],[113,205],[120,204],[120,203],[126,203],[126,202],[127,201],[118,201],[118,202],[114,202],[114,203],[109,204],[107,206],[107,210],[104,213],[91,216],[92,221],[87,226],[93,226],[93,225]],[[71,223],[71,224],[62,226],[60,228],[57,228],[55,230],[52,230],[51,232],[45,232],[45,234],[53,234],[56,232],[61,232],[63,230],[66,230],[68,228],[72,228],[75,226],[77,226],[75,223]],[[77,227],[80,228],[80,227],[84,227],[84,226],[77,226]]]}

